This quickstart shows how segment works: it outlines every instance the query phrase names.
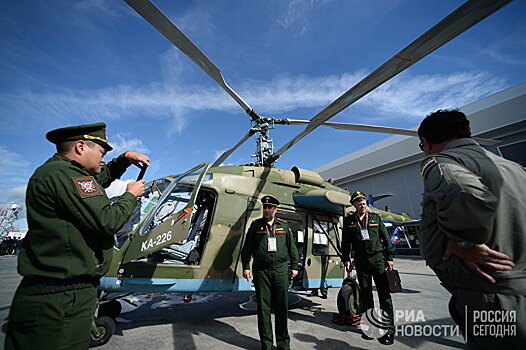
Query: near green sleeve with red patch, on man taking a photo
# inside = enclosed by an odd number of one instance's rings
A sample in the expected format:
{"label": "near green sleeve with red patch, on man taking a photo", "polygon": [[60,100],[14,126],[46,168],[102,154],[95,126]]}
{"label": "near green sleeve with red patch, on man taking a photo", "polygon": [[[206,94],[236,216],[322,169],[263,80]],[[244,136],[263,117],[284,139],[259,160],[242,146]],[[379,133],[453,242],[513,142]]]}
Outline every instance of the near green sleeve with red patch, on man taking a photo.
{"label": "near green sleeve with red patch, on man taking a photo", "polygon": [[[90,194],[83,192],[78,179],[87,182]],[[82,171],[68,169],[61,176],[47,178],[46,182],[55,192],[60,214],[73,222],[81,232],[113,235],[130,219],[137,205],[137,199],[129,192],[111,202],[95,179]]]}

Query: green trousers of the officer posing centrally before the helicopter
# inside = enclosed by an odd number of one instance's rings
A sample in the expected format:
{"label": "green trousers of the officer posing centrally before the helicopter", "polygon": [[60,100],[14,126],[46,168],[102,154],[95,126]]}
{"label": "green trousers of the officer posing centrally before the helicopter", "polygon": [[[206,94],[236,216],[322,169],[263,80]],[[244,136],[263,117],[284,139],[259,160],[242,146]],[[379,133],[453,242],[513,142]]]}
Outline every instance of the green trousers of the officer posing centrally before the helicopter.
{"label": "green trousers of the officer posing centrally before the helicopter", "polygon": [[261,349],[272,349],[271,309],[276,315],[276,345],[278,350],[290,348],[287,328],[289,267],[287,263],[274,268],[258,268],[254,264],[254,286],[258,307],[258,331]]}

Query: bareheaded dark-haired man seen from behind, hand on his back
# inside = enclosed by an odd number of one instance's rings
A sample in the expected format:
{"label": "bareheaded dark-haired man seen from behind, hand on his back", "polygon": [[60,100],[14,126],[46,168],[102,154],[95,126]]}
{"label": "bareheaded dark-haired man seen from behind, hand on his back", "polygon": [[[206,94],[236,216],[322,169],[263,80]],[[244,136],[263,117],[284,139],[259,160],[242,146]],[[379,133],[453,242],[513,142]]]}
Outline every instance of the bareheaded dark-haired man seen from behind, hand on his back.
{"label": "bareheaded dark-haired man seen from behind, hand on his back", "polygon": [[458,110],[428,115],[418,136],[430,155],[420,250],[452,294],[450,314],[469,348],[524,348],[526,171],[479,146]]}

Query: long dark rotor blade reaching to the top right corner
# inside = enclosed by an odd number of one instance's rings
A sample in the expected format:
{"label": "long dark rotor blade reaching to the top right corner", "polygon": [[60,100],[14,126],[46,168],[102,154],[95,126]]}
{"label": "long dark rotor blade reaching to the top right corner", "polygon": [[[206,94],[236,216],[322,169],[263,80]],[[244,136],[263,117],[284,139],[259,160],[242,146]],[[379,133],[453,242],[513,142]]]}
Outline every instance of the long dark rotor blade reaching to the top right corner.
{"label": "long dark rotor blade reaching to the top right corner", "polygon": [[274,163],[284,152],[334,115],[358,101],[360,98],[367,95],[373,89],[385,83],[398,73],[412,66],[420,59],[429,55],[442,45],[446,44],[493,12],[497,11],[510,1],[511,0],[468,1],[460,6],[449,16],[444,18],[316,114],[301,133],[281,147],[277,152],[272,154],[268,159],[268,163]]}

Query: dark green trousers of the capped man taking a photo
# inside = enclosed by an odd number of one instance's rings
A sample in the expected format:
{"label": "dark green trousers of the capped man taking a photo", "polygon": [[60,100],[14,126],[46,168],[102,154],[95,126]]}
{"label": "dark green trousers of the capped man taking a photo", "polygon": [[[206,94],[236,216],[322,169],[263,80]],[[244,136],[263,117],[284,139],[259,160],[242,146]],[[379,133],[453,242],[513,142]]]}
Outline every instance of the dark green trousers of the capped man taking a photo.
{"label": "dark green trousers of the capped man taking a photo", "polygon": [[[34,294],[39,288],[18,287],[9,311],[6,350],[86,350],[96,307],[97,289],[83,286]],[[29,292],[28,292],[29,291]]]}

